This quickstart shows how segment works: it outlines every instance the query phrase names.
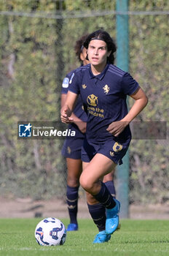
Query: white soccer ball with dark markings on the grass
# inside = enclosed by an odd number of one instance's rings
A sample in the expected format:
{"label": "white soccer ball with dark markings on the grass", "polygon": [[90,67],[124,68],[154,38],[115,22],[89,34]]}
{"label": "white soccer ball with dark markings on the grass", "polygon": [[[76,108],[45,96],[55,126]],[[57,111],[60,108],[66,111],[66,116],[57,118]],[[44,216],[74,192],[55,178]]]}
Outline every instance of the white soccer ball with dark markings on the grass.
{"label": "white soccer ball with dark markings on the grass", "polygon": [[35,238],[39,245],[63,245],[66,241],[66,228],[59,219],[42,219],[36,226]]}

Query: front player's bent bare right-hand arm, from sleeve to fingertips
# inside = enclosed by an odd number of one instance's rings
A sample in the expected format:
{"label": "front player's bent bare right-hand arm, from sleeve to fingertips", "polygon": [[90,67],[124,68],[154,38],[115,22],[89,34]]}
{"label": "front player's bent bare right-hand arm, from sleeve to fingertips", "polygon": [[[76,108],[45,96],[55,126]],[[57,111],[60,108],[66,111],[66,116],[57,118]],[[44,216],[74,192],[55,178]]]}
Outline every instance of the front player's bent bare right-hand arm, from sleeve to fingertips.
{"label": "front player's bent bare right-hand arm, from sleeve to fingertips", "polygon": [[127,125],[130,124],[130,122],[136,116],[138,116],[139,113],[141,113],[141,111],[146,107],[148,103],[148,98],[140,87],[135,91],[134,94],[131,94],[130,97],[135,99],[135,102],[132,108],[130,108],[130,111],[124,118],[122,118],[122,120],[112,122],[107,128],[107,131],[111,132],[111,134],[114,136],[118,136],[125,129],[125,127],[127,127]]}

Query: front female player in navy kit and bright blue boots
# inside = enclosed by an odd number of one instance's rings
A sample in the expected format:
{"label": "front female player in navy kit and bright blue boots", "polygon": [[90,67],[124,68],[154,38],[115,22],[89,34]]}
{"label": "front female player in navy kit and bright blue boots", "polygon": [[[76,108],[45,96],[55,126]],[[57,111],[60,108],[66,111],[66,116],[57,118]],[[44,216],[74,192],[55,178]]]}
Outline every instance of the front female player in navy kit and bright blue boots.
{"label": "front female player in navy kit and bright blue boots", "polygon": [[[130,74],[111,64],[114,63],[116,46],[106,31],[98,30],[90,34],[84,47],[87,48],[90,64],[74,72],[60,117],[63,123],[73,121],[71,113],[80,94],[88,116],[80,184],[87,192],[87,203],[90,212],[94,212],[94,222],[98,219],[101,225],[103,219],[103,212],[99,208],[95,211],[95,205],[99,202],[106,208],[106,229],[100,230],[93,241],[103,243],[109,241],[111,234],[117,230],[120,203],[111,196],[101,180],[117,164],[122,164],[122,157],[131,140],[130,121],[144,109],[148,99]],[[127,95],[135,99],[129,112]]]}

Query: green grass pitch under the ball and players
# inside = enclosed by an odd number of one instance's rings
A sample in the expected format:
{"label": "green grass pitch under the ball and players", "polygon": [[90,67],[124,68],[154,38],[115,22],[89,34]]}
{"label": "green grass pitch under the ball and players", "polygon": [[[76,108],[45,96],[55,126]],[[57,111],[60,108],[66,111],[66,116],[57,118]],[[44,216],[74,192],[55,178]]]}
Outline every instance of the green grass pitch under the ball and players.
{"label": "green grass pitch under the ball and players", "polygon": [[[79,219],[79,231],[67,233],[63,246],[39,246],[34,230],[40,220],[0,219],[0,255],[169,255],[169,220],[122,219],[122,227],[111,236],[111,241],[93,244],[97,234],[93,221]],[[68,225],[68,219],[61,220]]]}

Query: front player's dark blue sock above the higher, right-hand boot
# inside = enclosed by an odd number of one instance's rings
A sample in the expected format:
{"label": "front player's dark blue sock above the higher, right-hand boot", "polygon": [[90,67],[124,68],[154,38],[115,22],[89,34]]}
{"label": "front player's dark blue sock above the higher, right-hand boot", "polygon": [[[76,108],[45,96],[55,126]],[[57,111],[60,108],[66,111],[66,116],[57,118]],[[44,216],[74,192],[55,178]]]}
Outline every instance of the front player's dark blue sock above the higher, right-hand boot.
{"label": "front player's dark blue sock above the higher, right-hand boot", "polygon": [[93,195],[96,200],[98,200],[99,203],[102,203],[105,208],[111,209],[116,206],[116,203],[107,189],[106,185],[101,182],[101,190],[98,192],[97,195]]}

